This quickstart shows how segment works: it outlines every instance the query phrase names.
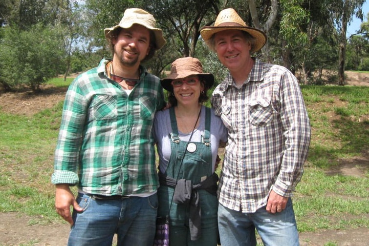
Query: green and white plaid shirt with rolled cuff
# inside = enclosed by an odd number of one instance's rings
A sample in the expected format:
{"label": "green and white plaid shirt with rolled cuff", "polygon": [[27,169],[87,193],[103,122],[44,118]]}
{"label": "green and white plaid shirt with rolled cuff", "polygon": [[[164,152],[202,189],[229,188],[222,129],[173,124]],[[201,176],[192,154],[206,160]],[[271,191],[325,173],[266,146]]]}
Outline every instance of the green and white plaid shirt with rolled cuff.
{"label": "green and white plaid shirt with rolled cuff", "polygon": [[68,88],[55,150],[53,184],[86,193],[130,195],[158,188],[152,121],[165,105],[160,80],[141,69],[128,96],[103,59]]}

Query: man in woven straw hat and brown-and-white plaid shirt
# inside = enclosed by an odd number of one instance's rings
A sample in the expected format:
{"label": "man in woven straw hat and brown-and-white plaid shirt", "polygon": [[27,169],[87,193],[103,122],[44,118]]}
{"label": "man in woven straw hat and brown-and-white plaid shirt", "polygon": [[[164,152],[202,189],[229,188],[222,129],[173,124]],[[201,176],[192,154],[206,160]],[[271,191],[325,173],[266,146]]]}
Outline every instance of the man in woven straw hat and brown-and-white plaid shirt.
{"label": "man in woven straw hat and brown-and-white plaid shirt", "polygon": [[286,68],[251,57],[266,36],[233,9],[201,28],[201,37],[229,70],[212,97],[228,128],[218,188],[221,244],[256,245],[256,228],[264,245],[299,245],[291,196],[310,143],[299,84]]}

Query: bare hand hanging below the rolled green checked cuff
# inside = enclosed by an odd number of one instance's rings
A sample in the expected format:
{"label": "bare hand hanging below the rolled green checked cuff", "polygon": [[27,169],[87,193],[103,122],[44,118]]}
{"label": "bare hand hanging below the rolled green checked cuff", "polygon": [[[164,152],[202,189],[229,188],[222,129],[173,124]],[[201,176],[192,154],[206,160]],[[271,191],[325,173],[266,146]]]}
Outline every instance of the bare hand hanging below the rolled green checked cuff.
{"label": "bare hand hanging below the rolled green checked cuff", "polygon": [[78,211],[82,212],[83,208],[80,207],[69,188],[69,184],[56,184],[55,185],[55,209],[63,219],[70,225],[73,225],[73,219],[70,212],[70,206]]}

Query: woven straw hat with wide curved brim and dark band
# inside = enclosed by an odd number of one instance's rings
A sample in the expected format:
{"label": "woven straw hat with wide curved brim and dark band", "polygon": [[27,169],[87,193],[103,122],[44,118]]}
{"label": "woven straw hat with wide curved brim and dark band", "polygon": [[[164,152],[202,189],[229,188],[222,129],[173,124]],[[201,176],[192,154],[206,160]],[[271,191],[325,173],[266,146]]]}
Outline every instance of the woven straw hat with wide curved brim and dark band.
{"label": "woven straw hat with wide curved brim and dark band", "polygon": [[266,42],[266,35],[263,31],[247,26],[247,24],[239,17],[234,9],[223,9],[219,12],[214,26],[204,26],[200,30],[202,39],[209,46],[209,40],[214,34],[224,30],[241,30],[247,32],[255,38],[255,45],[251,52],[259,51]]}

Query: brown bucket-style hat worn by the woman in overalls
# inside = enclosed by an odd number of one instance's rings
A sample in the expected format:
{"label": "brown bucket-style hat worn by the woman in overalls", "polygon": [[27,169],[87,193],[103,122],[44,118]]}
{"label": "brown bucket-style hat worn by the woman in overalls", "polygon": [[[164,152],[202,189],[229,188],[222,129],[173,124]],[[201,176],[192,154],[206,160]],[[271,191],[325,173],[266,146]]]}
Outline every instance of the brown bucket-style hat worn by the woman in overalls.
{"label": "brown bucket-style hat worn by the woman in overalls", "polygon": [[167,91],[173,91],[171,82],[176,79],[184,79],[191,75],[197,75],[200,80],[205,81],[205,87],[210,88],[214,84],[214,76],[211,73],[202,72],[201,62],[193,57],[178,58],[172,62],[171,73],[167,78],[161,80],[161,85]]}

